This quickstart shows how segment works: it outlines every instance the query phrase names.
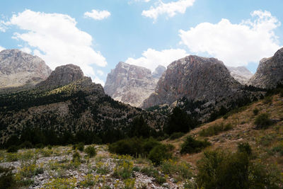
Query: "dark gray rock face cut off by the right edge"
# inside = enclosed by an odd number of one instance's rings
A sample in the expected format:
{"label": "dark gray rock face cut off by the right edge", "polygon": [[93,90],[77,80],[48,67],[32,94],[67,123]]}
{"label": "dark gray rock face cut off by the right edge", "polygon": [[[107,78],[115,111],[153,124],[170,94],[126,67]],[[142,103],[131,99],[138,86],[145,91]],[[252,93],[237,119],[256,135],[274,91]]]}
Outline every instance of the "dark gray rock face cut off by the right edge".
{"label": "dark gray rock face cut off by the right edge", "polygon": [[283,48],[273,57],[260,60],[258,69],[248,81],[249,85],[259,88],[274,88],[283,82]]}

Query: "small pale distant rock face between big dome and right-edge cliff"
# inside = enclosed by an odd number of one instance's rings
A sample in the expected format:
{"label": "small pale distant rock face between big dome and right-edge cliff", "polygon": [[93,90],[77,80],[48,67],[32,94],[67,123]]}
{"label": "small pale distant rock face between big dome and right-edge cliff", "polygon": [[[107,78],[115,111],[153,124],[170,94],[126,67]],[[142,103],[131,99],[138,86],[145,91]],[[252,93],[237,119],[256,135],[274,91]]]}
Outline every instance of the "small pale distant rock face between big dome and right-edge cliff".
{"label": "small pale distant rock face between big dome and right-edge cliff", "polygon": [[231,76],[242,85],[248,84],[248,80],[253,76],[253,73],[246,67],[227,67],[227,69],[230,71]]}

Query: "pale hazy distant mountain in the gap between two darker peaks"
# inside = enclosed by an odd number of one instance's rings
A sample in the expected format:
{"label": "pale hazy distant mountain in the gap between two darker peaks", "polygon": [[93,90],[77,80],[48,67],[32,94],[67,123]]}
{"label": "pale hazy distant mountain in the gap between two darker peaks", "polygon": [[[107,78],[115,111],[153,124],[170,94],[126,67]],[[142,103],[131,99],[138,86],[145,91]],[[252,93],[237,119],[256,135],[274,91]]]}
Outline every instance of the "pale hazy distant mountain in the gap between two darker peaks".
{"label": "pale hazy distant mountain in the gap between two darker peaks", "polygon": [[119,62],[108,74],[104,90],[116,101],[139,107],[154,92],[158,78],[165,67],[157,67],[154,74],[149,69]]}

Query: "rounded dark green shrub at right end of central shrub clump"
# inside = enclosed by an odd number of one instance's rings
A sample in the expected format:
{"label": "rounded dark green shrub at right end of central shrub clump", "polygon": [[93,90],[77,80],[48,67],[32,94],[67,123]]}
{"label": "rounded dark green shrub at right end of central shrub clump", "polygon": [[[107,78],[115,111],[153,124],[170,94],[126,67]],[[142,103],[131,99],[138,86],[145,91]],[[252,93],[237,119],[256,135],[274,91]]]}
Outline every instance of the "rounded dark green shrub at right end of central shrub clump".
{"label": "rounded dark green shrub at right end of central shrub clump", "polygon": [[168,152],[168,148],[166,145],[160,144],[149,152],[149,159],[154,163],[156,166],[161,164],[162,161],[170,159],[172,154]]}

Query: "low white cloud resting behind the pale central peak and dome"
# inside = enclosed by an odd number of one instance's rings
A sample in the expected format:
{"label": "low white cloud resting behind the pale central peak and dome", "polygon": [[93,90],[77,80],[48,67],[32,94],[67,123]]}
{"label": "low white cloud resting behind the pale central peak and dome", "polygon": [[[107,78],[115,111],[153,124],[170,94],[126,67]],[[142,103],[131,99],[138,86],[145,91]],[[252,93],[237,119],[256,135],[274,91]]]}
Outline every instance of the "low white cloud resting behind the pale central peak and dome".
{"label": "low white cloud resting behind the pale central peak and dome", "polygon": [[187,56],[187,53],[185,52],[185,50],[181,49],[157,51],[149,48],[148,50],[144,51],[142,55],[143,57],[140,57],[138,59],[128,58],[126,60],[126,63],[134,64],[140,67],[146,67],[148,69],[151,69],[151,71],[154,71],[154,69],[156,69],[158,65],[167,67],[171,62]]}

